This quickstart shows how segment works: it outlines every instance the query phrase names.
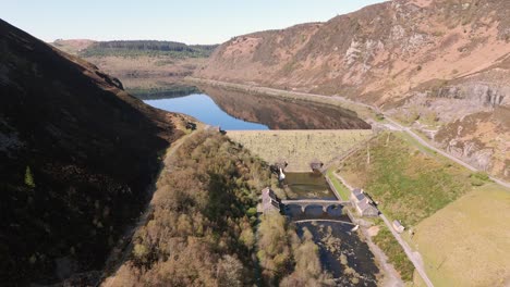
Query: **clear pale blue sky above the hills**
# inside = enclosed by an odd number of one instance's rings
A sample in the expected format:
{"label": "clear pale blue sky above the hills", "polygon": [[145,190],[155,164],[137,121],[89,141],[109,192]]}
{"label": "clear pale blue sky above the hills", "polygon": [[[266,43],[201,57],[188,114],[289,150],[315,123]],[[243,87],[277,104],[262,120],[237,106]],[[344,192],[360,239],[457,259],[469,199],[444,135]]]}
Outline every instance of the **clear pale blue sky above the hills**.
{"label": "clear pale blue sky above the hills", "polygon": [[0,18],[35,37],[219,43],[324,22],[381,0],[0,0]]}

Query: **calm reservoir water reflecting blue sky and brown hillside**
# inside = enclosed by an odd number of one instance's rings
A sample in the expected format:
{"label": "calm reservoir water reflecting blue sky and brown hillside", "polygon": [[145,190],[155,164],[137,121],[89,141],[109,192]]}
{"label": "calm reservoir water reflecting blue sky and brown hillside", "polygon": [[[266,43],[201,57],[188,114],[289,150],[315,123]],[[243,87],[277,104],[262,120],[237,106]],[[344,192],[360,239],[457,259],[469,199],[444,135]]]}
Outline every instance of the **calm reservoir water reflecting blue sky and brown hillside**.
{"label": "calm reservoir water reflecting blue sky and brown hillside", "polygon": [[191,95],[134,95],[155,108],[184,113],[224,130],[371,128],[354,112],[339,107],[208,86]]}

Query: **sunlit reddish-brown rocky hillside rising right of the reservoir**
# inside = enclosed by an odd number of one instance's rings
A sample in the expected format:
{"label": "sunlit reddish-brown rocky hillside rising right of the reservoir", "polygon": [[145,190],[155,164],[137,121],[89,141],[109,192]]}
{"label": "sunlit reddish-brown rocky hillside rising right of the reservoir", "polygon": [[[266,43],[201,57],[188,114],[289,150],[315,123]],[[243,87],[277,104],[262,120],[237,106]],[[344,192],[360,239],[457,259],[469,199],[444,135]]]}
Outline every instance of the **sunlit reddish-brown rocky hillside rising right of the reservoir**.
{"label": "sunlit reddish-brown rocky hillside rising right of the reservoir", "polygon": [[374,104],[508,179],[509,14],[506,0],[394,0],[234,37],[195,76]]}

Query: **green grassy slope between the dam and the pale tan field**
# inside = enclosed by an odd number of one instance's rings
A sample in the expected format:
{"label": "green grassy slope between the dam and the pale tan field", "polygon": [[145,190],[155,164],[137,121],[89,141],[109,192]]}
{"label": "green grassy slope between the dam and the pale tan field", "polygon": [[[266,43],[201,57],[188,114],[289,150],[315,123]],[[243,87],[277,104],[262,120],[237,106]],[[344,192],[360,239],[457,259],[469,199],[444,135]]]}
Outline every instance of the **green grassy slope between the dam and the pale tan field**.
{"label": "green grassy slope between the dam and the pale tan field", "polygon": [[[369,160],[368,160],[369,154]],[[340,171],[379,208],[408,227],[471,190],[470,173],[385,133],[345,160]]]}

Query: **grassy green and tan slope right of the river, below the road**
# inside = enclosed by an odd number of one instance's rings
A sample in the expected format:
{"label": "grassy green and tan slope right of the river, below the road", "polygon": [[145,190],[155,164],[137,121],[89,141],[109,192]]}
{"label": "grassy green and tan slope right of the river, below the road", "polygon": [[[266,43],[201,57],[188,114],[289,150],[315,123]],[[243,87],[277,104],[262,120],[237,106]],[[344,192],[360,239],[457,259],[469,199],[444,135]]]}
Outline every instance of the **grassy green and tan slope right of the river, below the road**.
{"label": "grassy green and tan slope right of the river, below the road", "polygon": [[[453,164],[401,133],[379,135],[338,173],[365,188],[387,216],[403,223],[404,239],[421,253],[435,285],[509,283],[503,267],[509,264],[503,254],[510,252],[509,192],[486,174]],[[412,278],[402,250],[380,228],[374,241],[404,279]]]}

